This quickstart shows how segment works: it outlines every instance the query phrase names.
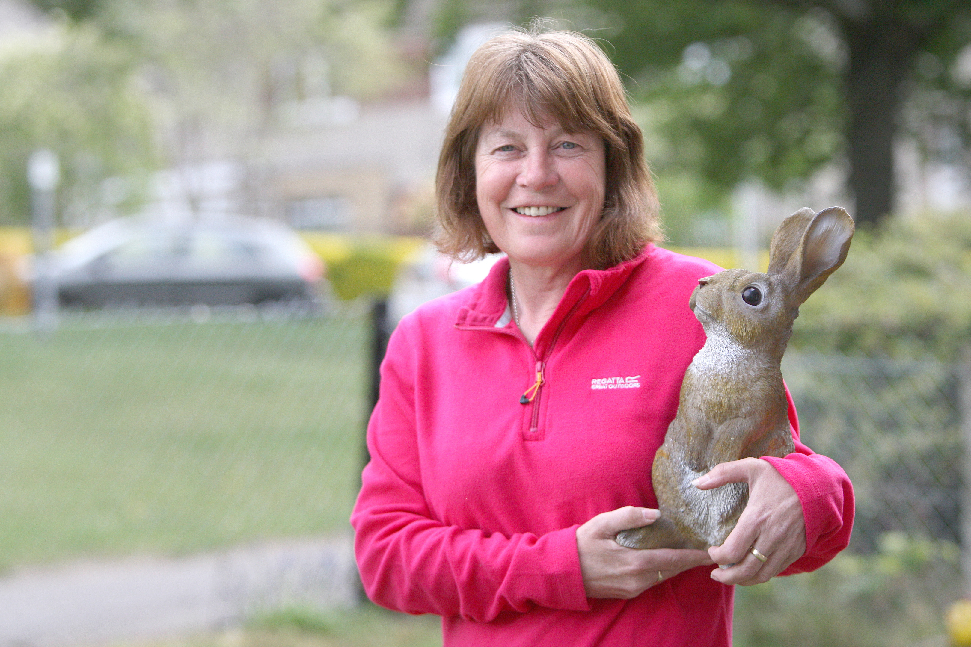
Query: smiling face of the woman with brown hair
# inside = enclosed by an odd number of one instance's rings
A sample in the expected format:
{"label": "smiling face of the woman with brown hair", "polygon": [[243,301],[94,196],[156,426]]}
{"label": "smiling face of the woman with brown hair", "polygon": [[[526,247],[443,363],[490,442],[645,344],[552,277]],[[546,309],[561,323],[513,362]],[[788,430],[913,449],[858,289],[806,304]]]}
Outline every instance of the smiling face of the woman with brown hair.
{"label": "smiling face of the woman with brown hair", "polygon": [[483,126],[476,146],[476,200],[492,241],[513,261],[583,269],[583,251],[606,192],[604,144],[537,127],[517,111]]}

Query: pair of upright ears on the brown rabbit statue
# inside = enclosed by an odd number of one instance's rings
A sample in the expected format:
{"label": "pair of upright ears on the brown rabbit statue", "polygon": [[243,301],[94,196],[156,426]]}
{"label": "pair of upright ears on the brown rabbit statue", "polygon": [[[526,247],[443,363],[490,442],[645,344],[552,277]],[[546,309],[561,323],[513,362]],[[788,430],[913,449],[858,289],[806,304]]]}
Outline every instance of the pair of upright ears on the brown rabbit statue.
{"label": "pair of upright ears on the brown rabbit statue", "polygon": [[843,265],[853,233],[853,218],[840,207],[798,210],[772,237],[769,274],[783,275],[801,304]]}

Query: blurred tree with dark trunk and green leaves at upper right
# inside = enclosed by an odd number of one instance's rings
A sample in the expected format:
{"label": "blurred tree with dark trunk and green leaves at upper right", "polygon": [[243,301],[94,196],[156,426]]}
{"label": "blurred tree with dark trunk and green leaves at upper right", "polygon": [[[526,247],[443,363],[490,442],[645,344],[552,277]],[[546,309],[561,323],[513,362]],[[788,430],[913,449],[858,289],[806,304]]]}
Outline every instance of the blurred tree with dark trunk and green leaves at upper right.
{"label": "blurred tree with dark trunk and green leaves at upper right", "polygon": [[[893,208],[894,139],[971,149],[966,0],[580,0],[670,143],[662,164],[783,188],[845,152],[855,217]],[[577,8],[592,8],[577,13]]]}

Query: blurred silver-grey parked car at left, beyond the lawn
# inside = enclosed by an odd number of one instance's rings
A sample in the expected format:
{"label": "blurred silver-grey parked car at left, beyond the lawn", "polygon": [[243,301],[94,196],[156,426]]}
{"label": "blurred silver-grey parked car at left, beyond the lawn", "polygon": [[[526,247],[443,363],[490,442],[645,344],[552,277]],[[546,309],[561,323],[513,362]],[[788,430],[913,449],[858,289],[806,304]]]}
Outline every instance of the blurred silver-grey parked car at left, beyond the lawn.
{"label": "blurred silver-grey parked car at left, beyond the lawn", "polygon": [[207,306],[316,301],[324,266],[293,230],[265,218],[118,218],[65,243],[65,307]]}

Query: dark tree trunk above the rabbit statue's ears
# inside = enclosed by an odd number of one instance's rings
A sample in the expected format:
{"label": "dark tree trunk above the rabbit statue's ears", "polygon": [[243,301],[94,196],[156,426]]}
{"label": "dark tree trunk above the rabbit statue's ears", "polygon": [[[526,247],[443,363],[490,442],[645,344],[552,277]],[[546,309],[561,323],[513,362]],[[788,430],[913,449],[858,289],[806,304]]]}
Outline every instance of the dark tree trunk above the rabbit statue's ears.
{"label": "dark tree trunk above the rabbit statue's ears", "polygon": [[901,105],[901,82],[920,47],[921,35],[889,16],[842,20],[850,49],[847,140],[850,187],[857,223],[876,224],[893,210],[893,136]]}

